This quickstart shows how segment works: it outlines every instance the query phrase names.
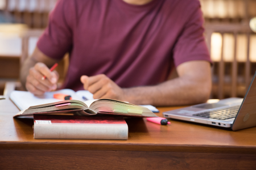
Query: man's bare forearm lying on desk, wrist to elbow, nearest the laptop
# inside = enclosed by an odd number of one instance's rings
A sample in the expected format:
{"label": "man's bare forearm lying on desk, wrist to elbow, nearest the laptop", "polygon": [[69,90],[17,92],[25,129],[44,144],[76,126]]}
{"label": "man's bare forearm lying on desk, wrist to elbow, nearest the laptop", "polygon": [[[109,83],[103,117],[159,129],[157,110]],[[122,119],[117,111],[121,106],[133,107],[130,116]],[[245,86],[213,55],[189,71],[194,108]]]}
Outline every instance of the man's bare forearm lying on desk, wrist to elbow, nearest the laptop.
{"label": "man's bare forearm lying on desk, wrist to elbow, nearest the laptop", "polygon": [[123,88],[126,99],[134,104],[185,105],[204,103],[211,90],[210,82],[176,78],[156,86]]}

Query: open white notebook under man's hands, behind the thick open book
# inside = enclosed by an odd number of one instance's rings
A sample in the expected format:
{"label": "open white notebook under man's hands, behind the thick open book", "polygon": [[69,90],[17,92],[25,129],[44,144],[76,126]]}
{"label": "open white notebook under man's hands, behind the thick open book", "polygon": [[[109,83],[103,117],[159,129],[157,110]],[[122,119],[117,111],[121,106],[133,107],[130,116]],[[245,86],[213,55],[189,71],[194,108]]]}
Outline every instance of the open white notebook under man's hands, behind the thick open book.
{"label": "open white notebook under man's hands, behind the thick open book", "polygon": [[[40,105],[40,104],[47,104],[47,103],[53,103],[61,101],[59,99],[54,99],[54,94],[66,94],[71,95],[73,100],[80,100],[83,101],[86,105],[90,105],[93,101],[93,94],[91,94],[87,90],[80,90],[80,91],[73,91],[71,89],[63,89],[58,91],[52,91],[52,92],[46,92],[43,96],[34,96],[31,94],[31,92],[28,91],[13,91],[10,94],[10,99],[13,101],[13,103],[20,109],[20,111],[23,111],[32,105]],[[150,111],[154,113],[158,113],[158,109],[153,107],[152,105],[142,105],[143,107],[146,107],[150,109]]]}

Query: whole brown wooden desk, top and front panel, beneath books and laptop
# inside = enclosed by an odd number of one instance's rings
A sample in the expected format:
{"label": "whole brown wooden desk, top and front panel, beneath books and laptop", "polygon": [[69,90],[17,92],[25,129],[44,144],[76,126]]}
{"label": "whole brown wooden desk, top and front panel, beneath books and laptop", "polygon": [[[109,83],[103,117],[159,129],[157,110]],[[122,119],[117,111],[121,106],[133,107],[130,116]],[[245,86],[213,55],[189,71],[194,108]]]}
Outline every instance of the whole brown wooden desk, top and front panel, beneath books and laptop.
{"label": "whole brown wooden desk, top and front panel, beneath books and laptop", "polygon": [[[178,107],[162,107],[161,112]],[[0,100],[1,169],[255,169],[256,128],[229,131],[127,119],[129,139],[34,139],[32,120]],[[157,113],[162,116],[162,113]]]}

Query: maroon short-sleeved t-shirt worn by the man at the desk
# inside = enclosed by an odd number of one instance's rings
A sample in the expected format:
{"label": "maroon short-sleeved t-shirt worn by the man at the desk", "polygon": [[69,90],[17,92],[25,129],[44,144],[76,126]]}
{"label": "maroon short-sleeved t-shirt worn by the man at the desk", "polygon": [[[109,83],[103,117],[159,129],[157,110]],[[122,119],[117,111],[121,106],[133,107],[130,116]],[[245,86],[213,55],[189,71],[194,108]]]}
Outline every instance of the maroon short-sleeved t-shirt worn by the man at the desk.
{"label": "maroon short-sleeved t-shirt worn by the man at the desk", "polygon": [[198,0],[60,0],[38,41],[47,56],[70,62],[63,88],[81,75],[105,74],[120,87],[154,85],[183,62],[210,61]]}

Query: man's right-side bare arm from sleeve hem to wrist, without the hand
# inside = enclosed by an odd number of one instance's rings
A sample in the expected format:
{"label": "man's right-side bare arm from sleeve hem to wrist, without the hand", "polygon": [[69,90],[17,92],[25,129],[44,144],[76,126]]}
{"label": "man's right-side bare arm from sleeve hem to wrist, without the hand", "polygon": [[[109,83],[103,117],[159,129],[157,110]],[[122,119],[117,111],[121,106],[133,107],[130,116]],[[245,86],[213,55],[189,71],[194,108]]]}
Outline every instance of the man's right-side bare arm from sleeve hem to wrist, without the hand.
{"label": "man's right-side bare arm from sleeve hem to wrist, without the hand", "polygon": [[210,63],[190,61],[177,67],[178,78],[156,86],[123,89],[134,104],[185,105],[207,101],[212,89]]}

